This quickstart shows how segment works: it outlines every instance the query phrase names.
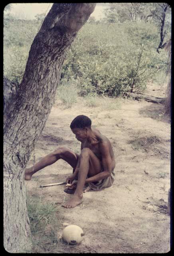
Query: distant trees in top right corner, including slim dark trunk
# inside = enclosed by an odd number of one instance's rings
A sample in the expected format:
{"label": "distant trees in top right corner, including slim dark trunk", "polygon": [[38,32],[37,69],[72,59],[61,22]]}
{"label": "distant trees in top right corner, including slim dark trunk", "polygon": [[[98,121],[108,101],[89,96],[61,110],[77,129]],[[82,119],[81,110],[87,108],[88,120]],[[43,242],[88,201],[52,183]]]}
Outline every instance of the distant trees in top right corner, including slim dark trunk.
{"label": "distant trees in top right corner, including slim dark trunk", "polygon": [[[151,22],[158,28],[159,41],[156,46],[159,52],[171,35],[171,8],[167,3],[110,3],[105,10],[105,20],[111,23]],[[163,45],[164,44],[164,45]]]}

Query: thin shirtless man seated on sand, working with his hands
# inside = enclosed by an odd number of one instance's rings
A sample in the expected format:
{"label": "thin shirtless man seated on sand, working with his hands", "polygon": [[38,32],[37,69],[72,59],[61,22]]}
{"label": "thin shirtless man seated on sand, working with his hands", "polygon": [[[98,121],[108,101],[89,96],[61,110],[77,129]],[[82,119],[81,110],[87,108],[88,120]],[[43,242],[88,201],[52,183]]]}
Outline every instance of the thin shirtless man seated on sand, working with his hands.
{"label": "thin shirtless man seated on sand, working with his hands", "polygon": [[38,163],[25,170],[25,179],[31,180],[32,175],[45,166],[59,159],[65,160],[73,168],[73,174],[66,182],[72,184],[75,192],[63,206],[73,208],[83,201],[83,187],[89,184],[93,190],[109,187],[115,180],[115,157],[111,142],[99,130],[91,127],[91,119],[80,115],[74,118],[70,128],[75,138],[81,142],[81,154],[78,155],[68,148],[60,147],[43,157]]}

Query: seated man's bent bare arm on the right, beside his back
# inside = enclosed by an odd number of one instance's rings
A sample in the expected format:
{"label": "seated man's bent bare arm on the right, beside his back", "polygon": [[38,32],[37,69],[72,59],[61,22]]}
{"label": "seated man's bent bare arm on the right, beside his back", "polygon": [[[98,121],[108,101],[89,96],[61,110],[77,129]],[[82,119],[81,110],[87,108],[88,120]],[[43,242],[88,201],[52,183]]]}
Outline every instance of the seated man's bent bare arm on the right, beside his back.
{"label": "seated man's bent bare arm on the right, beside his back", "polygon": [[103,171],[93,177],[87,178],[85,183],[103,180],[111,175],[112,158],[109,150],[109,143],[107,141],[101,142],[99,144],[99,150],[101,152]]}

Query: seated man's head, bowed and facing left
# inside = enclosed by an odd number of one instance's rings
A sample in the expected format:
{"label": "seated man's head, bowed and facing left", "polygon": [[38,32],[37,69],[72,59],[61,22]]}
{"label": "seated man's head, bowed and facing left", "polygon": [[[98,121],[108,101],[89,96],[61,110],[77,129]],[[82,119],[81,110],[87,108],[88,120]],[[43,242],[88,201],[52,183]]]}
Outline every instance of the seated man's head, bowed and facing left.
{"label": "seated man's head, bowed and facing left", "polygon": [[72,132],[75,134],[75,138],[81,142],[87,139],[87,132],[91,130],[91,119],[87,116],[76,116],[70,124]]}

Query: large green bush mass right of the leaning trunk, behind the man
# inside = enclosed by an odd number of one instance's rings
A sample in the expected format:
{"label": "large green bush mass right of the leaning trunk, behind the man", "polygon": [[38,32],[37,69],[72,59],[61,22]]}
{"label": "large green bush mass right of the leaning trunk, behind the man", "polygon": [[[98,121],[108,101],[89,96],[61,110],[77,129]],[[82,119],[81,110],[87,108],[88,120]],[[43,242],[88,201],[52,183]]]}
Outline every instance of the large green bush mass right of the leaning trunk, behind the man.
{"label": "large green bush mass right of the leaning trunk, behind the man", "polygon": [[142,92],[157,70],[167,68],[156,52],[156,26],[144,22],[85,24],[65,60],[62,78],[77,80],[79,94],[121,96]]}

